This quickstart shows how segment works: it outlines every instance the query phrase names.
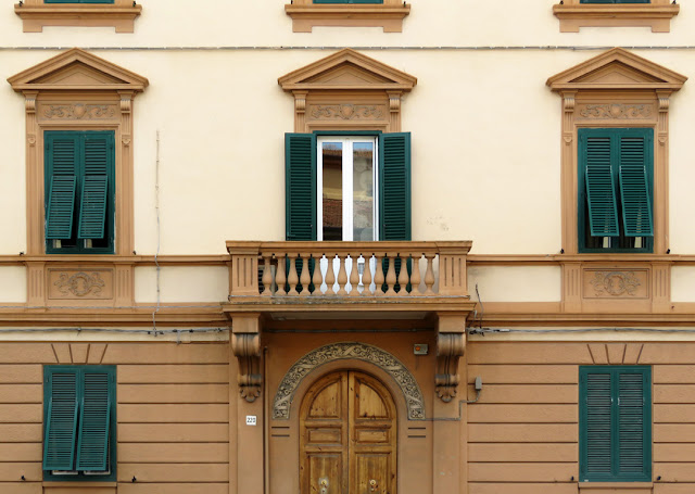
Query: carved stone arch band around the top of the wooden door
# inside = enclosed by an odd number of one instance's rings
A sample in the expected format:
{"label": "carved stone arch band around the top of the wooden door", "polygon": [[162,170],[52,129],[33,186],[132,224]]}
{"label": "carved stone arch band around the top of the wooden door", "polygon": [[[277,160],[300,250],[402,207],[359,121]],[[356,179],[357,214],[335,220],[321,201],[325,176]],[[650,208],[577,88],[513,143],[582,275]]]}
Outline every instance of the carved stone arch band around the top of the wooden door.
{"label": "carved stone arch band around the top of the wooden door", "polygon": [[300,358],[285,375],[273,401],[273,418],[288,420],[290,405],[302,380],[317,367],[333,360],[357,359],[368,362],[384,370],[399,384],[405,397],[408,420],[425,419],[425,398],[415,377],[393,355],[356,342],[332,343],[316,349]]}

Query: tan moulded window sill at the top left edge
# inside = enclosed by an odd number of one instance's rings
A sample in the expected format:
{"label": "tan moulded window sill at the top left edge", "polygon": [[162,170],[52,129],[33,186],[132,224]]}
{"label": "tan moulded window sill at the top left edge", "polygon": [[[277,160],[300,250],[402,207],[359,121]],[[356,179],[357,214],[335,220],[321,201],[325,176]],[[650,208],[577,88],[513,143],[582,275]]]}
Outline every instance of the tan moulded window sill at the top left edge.
{"label": "tan moulded window sill at the top left edge", "polygon": [[141,12],[142,5],[14,5],[14,13],[24,23],[24,33],[41,33],[43,26],[114,27],[116,33],[132,33]]}

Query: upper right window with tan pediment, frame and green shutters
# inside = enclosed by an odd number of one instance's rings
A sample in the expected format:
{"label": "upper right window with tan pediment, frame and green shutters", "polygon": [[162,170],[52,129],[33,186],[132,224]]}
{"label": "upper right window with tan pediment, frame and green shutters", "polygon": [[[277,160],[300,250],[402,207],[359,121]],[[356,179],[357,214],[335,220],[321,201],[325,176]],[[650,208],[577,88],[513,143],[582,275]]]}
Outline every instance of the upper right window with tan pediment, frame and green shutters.
{"label": "upper right window with tan pediment, frame and green shutters", "polygon": [[667,252],[669,97],[686,79],[615,48],[547,80],[564,103],[565,253]]}

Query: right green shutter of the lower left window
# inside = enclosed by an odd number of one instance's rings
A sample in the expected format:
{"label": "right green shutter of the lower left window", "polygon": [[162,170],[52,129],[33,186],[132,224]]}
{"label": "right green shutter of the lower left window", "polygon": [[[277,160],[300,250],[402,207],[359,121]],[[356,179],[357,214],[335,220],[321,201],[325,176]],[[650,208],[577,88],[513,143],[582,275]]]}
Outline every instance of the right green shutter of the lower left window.
{"label": "right green shutter of the lower left window", "polygon": [[109,468],[109,430],[111,419],[110,376],[86,371],[83,406],[79,414],[77,470],[105,471]]}

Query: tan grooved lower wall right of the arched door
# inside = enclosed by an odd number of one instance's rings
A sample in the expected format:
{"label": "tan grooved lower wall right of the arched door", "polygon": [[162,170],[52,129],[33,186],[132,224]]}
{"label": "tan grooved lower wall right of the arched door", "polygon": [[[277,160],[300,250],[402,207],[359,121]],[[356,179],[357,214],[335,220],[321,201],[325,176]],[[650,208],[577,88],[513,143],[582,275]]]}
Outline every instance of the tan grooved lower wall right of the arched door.
{"label": "tan grooved lower wall right of the arched door", "polygon": [[592,364],[653,366],[655,482],[579,492],[695,492],[695,344],[471,342],[468,352],[469,380],[484,383],[468,406],[469,494],[578,492],[579,366]]}

